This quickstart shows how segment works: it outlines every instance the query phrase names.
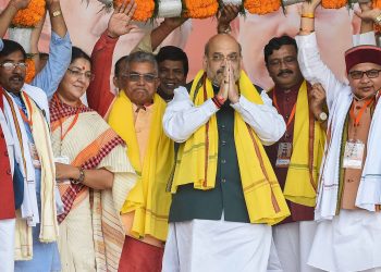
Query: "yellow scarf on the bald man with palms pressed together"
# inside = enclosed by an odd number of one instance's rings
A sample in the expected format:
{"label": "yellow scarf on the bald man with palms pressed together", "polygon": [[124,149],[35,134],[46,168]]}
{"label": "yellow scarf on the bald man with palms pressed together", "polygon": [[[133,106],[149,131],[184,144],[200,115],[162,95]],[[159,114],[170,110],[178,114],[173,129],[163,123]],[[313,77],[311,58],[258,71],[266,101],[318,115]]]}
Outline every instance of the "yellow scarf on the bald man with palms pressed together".
{"label": "yellow scarf on the bald man with palms pressed together", "polygon": [[[190,89],[195,106],[214,95],[209,79],[198,88],[202,76],[204,71],[198,72]],[[263,103],[244,72],[241,73],[239,89],[249,101]],[[250,222],[270,225],[279,223],[290,215],[287,205],[258,136],[237,112],[234,113],[234,138]],[[177,186],[189,183],[194,183],[196,189],[214,188],[218,141],[217,118],[213,115],[180,147],[172,193],[176,191]]]}

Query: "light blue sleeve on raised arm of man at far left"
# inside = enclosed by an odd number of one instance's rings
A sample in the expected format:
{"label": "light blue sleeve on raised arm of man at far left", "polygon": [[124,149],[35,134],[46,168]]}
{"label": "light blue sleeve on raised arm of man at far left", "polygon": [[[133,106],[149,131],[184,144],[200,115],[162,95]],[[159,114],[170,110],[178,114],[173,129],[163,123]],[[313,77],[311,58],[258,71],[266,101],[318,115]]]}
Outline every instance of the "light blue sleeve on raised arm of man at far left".
{"label": "light blue sleeve on raised arm of man at far left", "polygon": [[33,79],[32,85],[41,88],[50,99],[62,81],[72,59],[72,41],[69,33],[61,38],[51,33],[49,59]]}

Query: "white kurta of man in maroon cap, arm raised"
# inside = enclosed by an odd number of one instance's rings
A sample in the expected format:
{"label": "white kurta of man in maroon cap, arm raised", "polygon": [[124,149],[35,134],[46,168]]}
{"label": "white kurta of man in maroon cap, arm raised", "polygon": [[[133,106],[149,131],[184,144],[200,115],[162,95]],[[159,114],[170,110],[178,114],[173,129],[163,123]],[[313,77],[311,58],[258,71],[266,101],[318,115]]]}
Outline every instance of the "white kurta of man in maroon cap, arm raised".
{"label": "white kurta of man in maroon cap, arm raised", "polygon": [[[335,112],[336,100],[342,96],[351,95],[351,87],[347,83],[339,82],[321,61],[315,33],[298,36],[296,40],[303,75],[311,83],[322,84],[327,91],[330,112]],[[361,35],[359,44],[373,45],[373,33]],[[346,111],[341,112],[341,114],[347,113]],[[341,119],[345,120],[345,116]],[[339,116],[331,114],[331,120],[339,120]],[[335,129],[336,125],[332,129]],[[330,163],[330,161],[325,163]],[[336,162],[332,161],[332,163]],[[327,166],[333,166],[333,170],[337,172],[339,163]],[[325,182],[330,181],[323,181],[323,183]],[[323,188],[321,184],[319,186],[320,189]],[[320,190],[319,195],[316,219],[321,220],[321,222],[317,226],[308,264],[332,272],[374,271],[373,269],[380,269],[381,213],[366,210],[341,210],[340,214],[335,217],[334,208],[331,207],[332,205],[336,207],[337,197],[335,196],[335,199],[321,198]]]}

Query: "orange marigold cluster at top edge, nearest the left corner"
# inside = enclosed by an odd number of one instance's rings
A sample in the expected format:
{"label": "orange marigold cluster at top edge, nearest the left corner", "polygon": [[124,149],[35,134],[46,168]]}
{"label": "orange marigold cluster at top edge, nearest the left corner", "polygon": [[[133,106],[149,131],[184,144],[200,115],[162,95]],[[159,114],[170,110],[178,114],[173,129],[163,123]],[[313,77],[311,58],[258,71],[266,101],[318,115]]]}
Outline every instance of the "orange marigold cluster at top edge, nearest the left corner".
{"label": "orange marigold cluster at top edge, nearest the left corner", "polygon": [[41,21],[45,14],[45,0],[32,0],[28,7],[16,13],[12,20],[12,26],[34,27]]}

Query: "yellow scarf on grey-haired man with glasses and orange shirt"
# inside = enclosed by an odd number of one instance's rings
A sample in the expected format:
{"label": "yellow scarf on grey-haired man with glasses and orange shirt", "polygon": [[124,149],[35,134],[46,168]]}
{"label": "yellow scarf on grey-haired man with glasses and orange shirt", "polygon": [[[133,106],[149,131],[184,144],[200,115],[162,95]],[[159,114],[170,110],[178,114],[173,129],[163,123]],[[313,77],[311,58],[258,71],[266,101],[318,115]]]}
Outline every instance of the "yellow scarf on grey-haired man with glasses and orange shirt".
{"label": "yellow scarf on grey-haired man with glasses and orange shirt", "polygon": [[121,210],[122,213],[135,211],[131,235],[140,238],[148,234],[165,240],[171,205],[171,194],[165,191],[165,186],[174,166],[174,145],[162,128],[167,103],[155,95],[153,107],[143,165],[134,127],[133,104],[124,91],[116,98],[108,122],[127,144],[127,156],[138,174],[136,185]]}

